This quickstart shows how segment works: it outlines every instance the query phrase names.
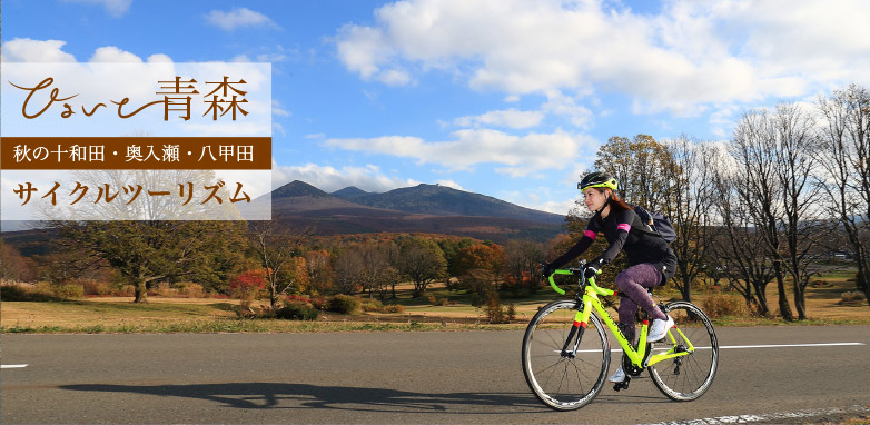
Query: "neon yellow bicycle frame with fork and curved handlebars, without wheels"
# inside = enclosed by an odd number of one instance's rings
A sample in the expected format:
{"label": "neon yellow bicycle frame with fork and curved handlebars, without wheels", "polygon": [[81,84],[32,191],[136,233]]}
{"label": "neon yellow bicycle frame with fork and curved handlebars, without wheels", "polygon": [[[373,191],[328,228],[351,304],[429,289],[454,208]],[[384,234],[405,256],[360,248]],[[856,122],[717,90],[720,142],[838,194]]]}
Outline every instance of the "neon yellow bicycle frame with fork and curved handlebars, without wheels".
{"label": "neon yellow bicycle frame with fork and curved handlebars, without wheels", "polygon": [[[581,268],[581,276],[583,269]],[[574,275],[573,270],[570,269],[558,269],[555,270],[555,273],[547,277],[550,280],[550,286],[553,287],[553,290],[558,293],[560,295],[565,295],[565,291],[556,286],[555,280],[553,280],[553,276],[555,275]],[[581,277],[582,278],[582,277]],[[646,367],[654,365],[659,362],[666,360],[669,358],[675,358],[681,356],[686,356],[692,353],[694,353],[694,345],[689,340],[689,338],[683,334],[682,330],[680,330],[676,326],[672,327],[670,330],[668,330],[666,337],[671,339],[673,343],[673,346],[671,349],[669,349],[665,353],[651,355],[647,357],[646,349],[649,348],[649,344],[637,344],[637,349],[634,349],[632,347],[631,342],[629,342],[627,338],[622,334],[620,328],[616,326],[616,324],[613,322],[613,318],[607,313],[607,310],[604,309],[604,306],[601,304],[601,300],[599,299],[599,296],[611,296],[616,294],[616,291],[602,288],[597,285],[595,285],[595,278],[591,277],[586,280],[587,285],[585,285],[585,289],[583,291],[583,296],[581,297],[577,295],[577,302],[583,304],[583,308],[577,312],[577,314],[574,316],[574,323],[572,325],[571,332],[569,333],[569,337],[565,340],[565,346],[563,347],[563,354],[567,350],[569,346],[571,345],[572,340],[574,339],[574,336],[576,335],[576,342],[574,342],[573,349],[571,350],[570,355],[573,357],[576,355],[577,346],[580,345],[580,339],[583,337],[583,330],[586,328],[586,324],[589,323],[589,316],[592,314],[592,309],[594,308],[595,312],[597,312],[599,317],[601,317],[602,320],[604,320],[604,324],[610,329],[611,334],[616,337],[616,340],[620,343],[620,346],[623,349],[623,353],[629,357],[629,359],[632,362],[633,365],[637,367]],[[581,289],[584,285],[581,285]],[[643,320],[643,326],[641,327],[641,337],[639,342],[645,342],[646,340],[646,334],[649,332],[649,320]],[[683,338],[683,340],[688,344],[688,347],[684,347],[681,350],[678,350],[678,344],[676,339],[673,336],[673,332],[678,332],[680,336]],[[646,362],[644,362],[646,359]]]}

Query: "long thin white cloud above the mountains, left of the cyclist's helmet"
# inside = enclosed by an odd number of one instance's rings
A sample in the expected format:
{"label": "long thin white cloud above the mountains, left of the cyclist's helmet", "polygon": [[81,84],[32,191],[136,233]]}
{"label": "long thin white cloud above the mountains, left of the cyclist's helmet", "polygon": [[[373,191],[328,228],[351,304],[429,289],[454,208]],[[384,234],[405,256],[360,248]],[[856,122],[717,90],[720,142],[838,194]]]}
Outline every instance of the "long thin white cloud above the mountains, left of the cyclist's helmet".
{"label": "long thin white cloud above the mountains, left of the cyclist's helmet", "polygon": [[556,130],[553,134],[514,136],[491,129],[455,131],[453,140],[427,142],[417,137],[384,136],[370,139],[328,139],[328,147],[369,154],[413,158],[419,164],[438,164],[452,170],[466,170],[477,164],[505,167],[496,171],[512,177],[527,176],[547,168],[564,168],[592,140]]}

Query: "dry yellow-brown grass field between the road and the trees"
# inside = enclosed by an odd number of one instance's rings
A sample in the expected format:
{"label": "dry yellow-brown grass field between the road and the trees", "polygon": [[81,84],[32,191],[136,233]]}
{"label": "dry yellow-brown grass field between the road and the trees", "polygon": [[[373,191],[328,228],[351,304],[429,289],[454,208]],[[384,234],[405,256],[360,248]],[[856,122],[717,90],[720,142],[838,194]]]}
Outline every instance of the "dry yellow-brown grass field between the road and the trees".
{"label": "dry yellow-brown grass field between the road and the trees", "polygon": [[[807,309],[811,324],[870,323],[870,307],[866,300],[843,303],[842,294],[854,290],[854,283],[848,273],[832,274],[814,279],[807,293]],[[471,305],[471,296],[464,291],[449,290],[444,285],[433,285],[424,297],[412,298],[411,285],[397,287],[397,299],[387,298],[385,304],[399,304],[404,312],[397,314],[356,313],[337,315],[324,312],[316,323],[300,326],[294,320],[239,320],[236,299],[215,298],[174,298],[150,296],[149,303],[137,305],[131,297],[86,297],[71,302],[2,302],[0,303],[0,326],[3,333],[10,332],[295,332],[318,329],[347,329],[346,326],[330,324],[348,323],[397,323],[435,324],[443,327],[492,326],[500,328],[523,327],[540,306],[557,299],[558,295],[548,287],[523,298],[512,299],[503,296],[502,303],[513,304],[515,317],[508,325],[488,325],[483,308]],[[785,325],[781,318],[753,317],[743,309],[735,293],[721,289],[699,288],[693,302],[704,306],[714,296],[725,299],[739,308],[716,318],[720,326]],[[663,300],[676,299],[679,294],[673,286],[656,290]],[[791,293],[790,305],[793,308]],[[366,302],[368,295],[359,297]],[[442,300],[442,298],[446,298]],[[433,299],[436,303],[433,303]],[[777,287],[768,287],[770,308],[778,312]],[[438,303],[441,300],[441,303]],[[441,305],[438,305],[441,304]],[[263,302],[259,303],[263,305]],[[615,312],[614,312],[615,315]],[[245,322],[244,324],[239,324]],[[319,324],[319,325],[317,325]],[[317,326],[315,326],[317,325]],[[319,327],[318,327],[319,326]],[[368,329],[367,327],[363,327]]]}

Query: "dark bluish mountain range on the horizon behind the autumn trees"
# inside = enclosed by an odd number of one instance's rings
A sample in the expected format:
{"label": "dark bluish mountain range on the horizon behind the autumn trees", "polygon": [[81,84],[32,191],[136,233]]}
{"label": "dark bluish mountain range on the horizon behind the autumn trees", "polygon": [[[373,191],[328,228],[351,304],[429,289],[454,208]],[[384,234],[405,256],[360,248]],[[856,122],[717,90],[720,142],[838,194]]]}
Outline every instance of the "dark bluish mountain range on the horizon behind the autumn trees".
{"label": "dark bluish mountain range on the horizon behind the autumn trees", "polygon": [[328,194],[295,180],[271,192],[273,219],[314,225],[318,235],[437,233],[505,241],[546,240],[562,231],[564,216],[439,185],[387,192],[346,187]]}

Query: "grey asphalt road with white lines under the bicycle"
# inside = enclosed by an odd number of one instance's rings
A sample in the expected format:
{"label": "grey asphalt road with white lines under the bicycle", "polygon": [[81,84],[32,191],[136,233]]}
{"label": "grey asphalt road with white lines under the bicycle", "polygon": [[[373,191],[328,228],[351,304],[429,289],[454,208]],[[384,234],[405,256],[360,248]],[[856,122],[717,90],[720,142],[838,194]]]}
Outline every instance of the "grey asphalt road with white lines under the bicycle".
{"label": "grey asphalt road with white lines under the bicycle", "polygon": [[797,412],[814,422],[812,412],[870,407],[870,326],[718,334],[721,346],[864,345],[722,349],[712,388],[695,402],[671,402],[643,378],[562,413],[525,384],[522,332],[3,335],[2,364],[27,367],[0,373],[0,419],[634,424]]}

